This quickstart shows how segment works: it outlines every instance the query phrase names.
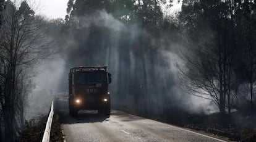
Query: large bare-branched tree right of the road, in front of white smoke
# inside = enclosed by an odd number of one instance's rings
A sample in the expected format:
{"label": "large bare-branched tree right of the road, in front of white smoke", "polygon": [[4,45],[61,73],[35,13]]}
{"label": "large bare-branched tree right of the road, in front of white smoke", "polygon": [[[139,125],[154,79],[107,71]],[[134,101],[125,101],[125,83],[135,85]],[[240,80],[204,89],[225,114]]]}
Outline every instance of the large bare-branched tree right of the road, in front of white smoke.
{"label": "large bare-branched tree right of the road, in front of white smoke", "polygon": [[187,34],[182,55],[187,69],[181,79],[192,94],[211,99],[221,114],[231,113],[241,81],[236,76],[239,57],[234,1],[183,1],[179,15]]}

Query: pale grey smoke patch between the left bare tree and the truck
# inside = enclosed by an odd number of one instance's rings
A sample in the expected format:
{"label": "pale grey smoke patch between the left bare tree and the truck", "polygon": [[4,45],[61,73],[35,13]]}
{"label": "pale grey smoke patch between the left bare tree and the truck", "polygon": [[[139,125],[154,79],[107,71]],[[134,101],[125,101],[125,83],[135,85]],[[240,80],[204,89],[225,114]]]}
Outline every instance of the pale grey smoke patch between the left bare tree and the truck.
{"label": "pale grey smoke patch between the left bare tree and the truck", "polygon": [[49,112],[51,101],[59,92],[59,85],[67,86],[67,81],[60,81],[65,76],[64,66],[65,62],[61,57],[41,61],[33,80],[35,86],[28,96],[25,119],[29,120]]}

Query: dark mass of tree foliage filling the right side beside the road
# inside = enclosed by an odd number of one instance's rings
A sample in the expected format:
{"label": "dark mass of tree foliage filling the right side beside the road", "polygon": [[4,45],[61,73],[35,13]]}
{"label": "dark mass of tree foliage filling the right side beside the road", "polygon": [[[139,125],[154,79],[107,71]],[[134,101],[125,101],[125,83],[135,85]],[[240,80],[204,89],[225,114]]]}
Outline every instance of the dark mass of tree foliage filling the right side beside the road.
{"label": "dark mass of tree foliage filling the right side beside the road", "polygon": [[[247,27],[255,33],[255,28],[250,26],[255,22],[253,5],[253,1],[231,0],[182,3],[179,20],[187,35],[186,52],[182,54],[187,62],[181,69],[182,84],[190,93],[211,99],[223,114],[226,109],[231,113],[243,83],[250,84],[250,102],[254,108],[256,47],[247,40],[255,36],[248,37],[244,29]],[[237,70],[243,65],[242,70],[247,71]],[[243,75],[247,80],[241,78]]]}

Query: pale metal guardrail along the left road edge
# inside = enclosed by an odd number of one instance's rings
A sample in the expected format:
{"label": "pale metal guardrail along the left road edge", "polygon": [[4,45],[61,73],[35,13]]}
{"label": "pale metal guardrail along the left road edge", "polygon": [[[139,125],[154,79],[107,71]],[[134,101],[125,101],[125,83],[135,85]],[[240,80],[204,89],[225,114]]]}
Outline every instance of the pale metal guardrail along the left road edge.
{"label": "pale metal guardrail along the left road edge", "polygon": [[49,113],[49,117],[46,123],[46,127],[45,127],[45,133],[43,133],[43,140],[42,142],[49,142],[49,137],[51,134],[51,122],[53,122],[53,101],[51,102],[51,111]]}

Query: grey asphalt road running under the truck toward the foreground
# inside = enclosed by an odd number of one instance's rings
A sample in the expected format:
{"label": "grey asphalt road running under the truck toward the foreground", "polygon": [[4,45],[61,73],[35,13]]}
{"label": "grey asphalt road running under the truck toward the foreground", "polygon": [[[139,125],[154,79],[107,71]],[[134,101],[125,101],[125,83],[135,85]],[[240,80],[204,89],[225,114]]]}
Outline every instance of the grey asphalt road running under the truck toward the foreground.
{"label": "grey asphalt road running under the truck toward the foreground", "polygon": [[111,117],[93,111],[69,115],[67,98],[55,101],[55,111],[61,117],[65,140],[69,141],[223,141],[183,128],[144,119],[121,111],[111,111]]}

